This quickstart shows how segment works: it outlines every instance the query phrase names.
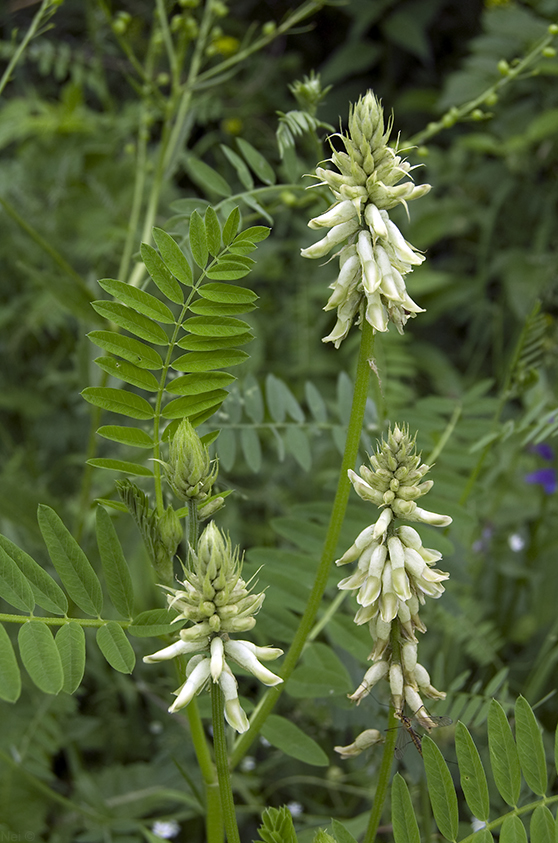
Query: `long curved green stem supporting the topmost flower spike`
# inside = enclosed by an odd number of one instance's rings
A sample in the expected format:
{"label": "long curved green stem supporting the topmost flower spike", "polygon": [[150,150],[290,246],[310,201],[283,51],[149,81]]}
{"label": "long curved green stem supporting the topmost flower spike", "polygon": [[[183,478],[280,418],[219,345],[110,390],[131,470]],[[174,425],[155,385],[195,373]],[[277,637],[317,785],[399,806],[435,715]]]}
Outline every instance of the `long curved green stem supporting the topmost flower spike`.
{"label": "long curved green stem supporting the topmost flower spike", "polygon": [[358,456],[364,409],[366,406],[366,399],[368,397],[368,381],[372,364],[373,348],[374,329],[368,324],[368,322],[365,321],[360,341],[360,352],[357,363],[353,404],[351,407],[351,416],[349,419],[347,439],[345,442],[345,453],[343,455],[343,462],[341,463],[337,492],[333,502],[329,527],[324,542],[322,557],[316,573],[314,586],[293,639],[293,643],[291,644],[289,652],[287,653],[283,663],[281,676],[284,682],[282,685],[270,688],[262,698],[260,704],[257,706],[254,714],[252,715],[249,730],[239,739],[232,754],[231,765],[233,768],[244,757],[250,745],[258,735],[263,723],[271,713],[275,703],[281,695],[282,689],[285,687],[285,683],[293,672],[308,636],[312,631],[312,626],[314,625],[314,621],[327,585],[331,563],[335,557],[339,534],[341,532],[341,527],[343,526],[345,511],[349,500],[351,484],[349,482],[347,472],[349,469],[354,469]]}

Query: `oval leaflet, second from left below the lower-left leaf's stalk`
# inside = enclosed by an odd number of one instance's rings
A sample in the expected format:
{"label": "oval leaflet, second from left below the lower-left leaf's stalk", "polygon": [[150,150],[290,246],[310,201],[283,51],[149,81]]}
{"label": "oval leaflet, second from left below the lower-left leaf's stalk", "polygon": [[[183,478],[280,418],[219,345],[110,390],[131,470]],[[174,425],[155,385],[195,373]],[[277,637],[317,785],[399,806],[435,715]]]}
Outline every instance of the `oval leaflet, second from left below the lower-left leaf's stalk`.
{"label": "oval leaflet, second from left below the lower-left leaf's stalk", "polygon": [[39,690],[58,694],[64,685],[64,671],[52,632],[42,621],[27,621],[18,634],[23,665]]}

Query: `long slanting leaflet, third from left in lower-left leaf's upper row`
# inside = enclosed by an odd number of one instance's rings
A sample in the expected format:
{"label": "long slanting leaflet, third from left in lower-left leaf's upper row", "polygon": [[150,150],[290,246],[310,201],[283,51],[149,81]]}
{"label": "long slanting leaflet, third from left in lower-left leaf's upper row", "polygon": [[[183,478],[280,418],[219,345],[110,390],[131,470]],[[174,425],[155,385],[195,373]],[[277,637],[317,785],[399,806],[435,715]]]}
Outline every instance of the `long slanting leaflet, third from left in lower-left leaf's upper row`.
{"label": "long slanting leaflet, third from left in lower-left leaf's upper row", "polygon": [[39,504],[39,528],[49,556],[72,600],[88,615],[99,616],[103,592],[87,556],[49,506]]}

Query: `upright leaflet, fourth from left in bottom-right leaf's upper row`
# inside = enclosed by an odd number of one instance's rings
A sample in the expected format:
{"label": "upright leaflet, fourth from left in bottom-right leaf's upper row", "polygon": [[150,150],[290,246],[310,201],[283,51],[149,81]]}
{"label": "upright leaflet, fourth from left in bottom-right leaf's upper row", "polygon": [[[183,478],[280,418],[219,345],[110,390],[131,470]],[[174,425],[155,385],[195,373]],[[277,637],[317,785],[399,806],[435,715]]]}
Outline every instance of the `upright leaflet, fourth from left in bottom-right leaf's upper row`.
{"label": "upright leaflet, fourth from left in bottom-right leaf's upper row", "polygon": [[504,709],[497,700],[492,700],[488,711],[488,747],[500,796],[515,807],[521,788],[519,754]]}

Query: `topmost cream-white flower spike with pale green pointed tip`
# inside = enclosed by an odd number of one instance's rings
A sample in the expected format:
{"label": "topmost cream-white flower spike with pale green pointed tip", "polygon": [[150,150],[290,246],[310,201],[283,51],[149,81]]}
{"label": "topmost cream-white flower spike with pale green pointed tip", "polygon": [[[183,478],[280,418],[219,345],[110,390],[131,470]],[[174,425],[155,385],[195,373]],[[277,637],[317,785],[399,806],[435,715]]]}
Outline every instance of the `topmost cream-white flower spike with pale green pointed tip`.
{"label": "topmost cream-white flower spike with pale green pointed tip", "polygon": [[336,348],[355,320],[366,319],[376,331],[387,331],[391,321],[402,333],[407,320],[422,310],[407,294],[404,276],[424,256],[405,240],[388,211],[424,196],[430,185],[398,184],[414,168],[388,146],[390,132],[379,101],[368,91],[350,111],[348,135],[334,136],[345,147],[344,152],[333,149],[328,159],[339,172],[316,169],[335,202],[308,223],[330,230],[302,255],[322,258],[337,248],[339,274],[324,308],[337,308],[337,323],[323,340]]}

